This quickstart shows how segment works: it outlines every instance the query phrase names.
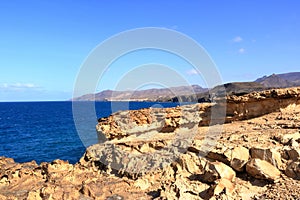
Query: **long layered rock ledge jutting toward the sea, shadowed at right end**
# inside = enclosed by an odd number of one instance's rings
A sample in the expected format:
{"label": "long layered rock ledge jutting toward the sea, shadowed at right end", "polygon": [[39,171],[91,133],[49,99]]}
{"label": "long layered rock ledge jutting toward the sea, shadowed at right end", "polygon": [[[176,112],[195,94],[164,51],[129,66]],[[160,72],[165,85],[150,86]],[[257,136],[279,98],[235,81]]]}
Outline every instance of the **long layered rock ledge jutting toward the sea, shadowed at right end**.
{"label": "long layered rock ledge jutting toward the sea, shadowed at right end", "polygon": [[[199,123],[200,126],[251,119],[300,104],[300,88],[274,89],[243,96],[231,95],[216,99],[216,103],[185,105],[176,108],[149,108],[120,111],[99,119],[99,138],[122,138],[151,132],[174,132]],[[300,127],[300,122],[293,128]]]}

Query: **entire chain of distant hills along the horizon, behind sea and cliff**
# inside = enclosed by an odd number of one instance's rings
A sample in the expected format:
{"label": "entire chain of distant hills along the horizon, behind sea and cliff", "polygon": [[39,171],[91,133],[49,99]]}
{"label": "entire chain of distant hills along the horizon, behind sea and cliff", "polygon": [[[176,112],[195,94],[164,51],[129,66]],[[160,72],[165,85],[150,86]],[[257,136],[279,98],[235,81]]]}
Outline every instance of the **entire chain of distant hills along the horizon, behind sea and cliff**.
{"label": "entire chain of distant hills along the horizon, behind sea and cliff", "polygon": [[[138,91],[105,90],[96,94],[87,94],[72,99],[73,101],[172,101],[172,102],[210,102],[213,97],[225,94],[243,95],[253,91],[271,88],[300,86],[300,72],[272,74],[253,82],[233,82],[216,86],[208,92],[199,85],[148,89]],[[225,90],[224,90],[225,88]]]}

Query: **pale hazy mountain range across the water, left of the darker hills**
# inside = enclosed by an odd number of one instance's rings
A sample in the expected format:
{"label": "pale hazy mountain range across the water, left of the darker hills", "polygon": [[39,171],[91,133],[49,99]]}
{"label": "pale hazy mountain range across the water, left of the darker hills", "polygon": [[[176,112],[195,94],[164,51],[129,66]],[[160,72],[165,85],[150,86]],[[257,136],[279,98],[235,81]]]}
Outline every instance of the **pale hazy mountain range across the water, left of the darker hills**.
{"label": "pale hazy mountain range across the water, left of the darker hills", "polygon": [[148,89],[137,91],[113,91],[104,90],[96,94],[86,94],[73,101],[160,101],[162,99],[171,99],[174,96],[190,95],[194,93],[203,93],[208,91],[199,85],[180,86],[163,89]]}

